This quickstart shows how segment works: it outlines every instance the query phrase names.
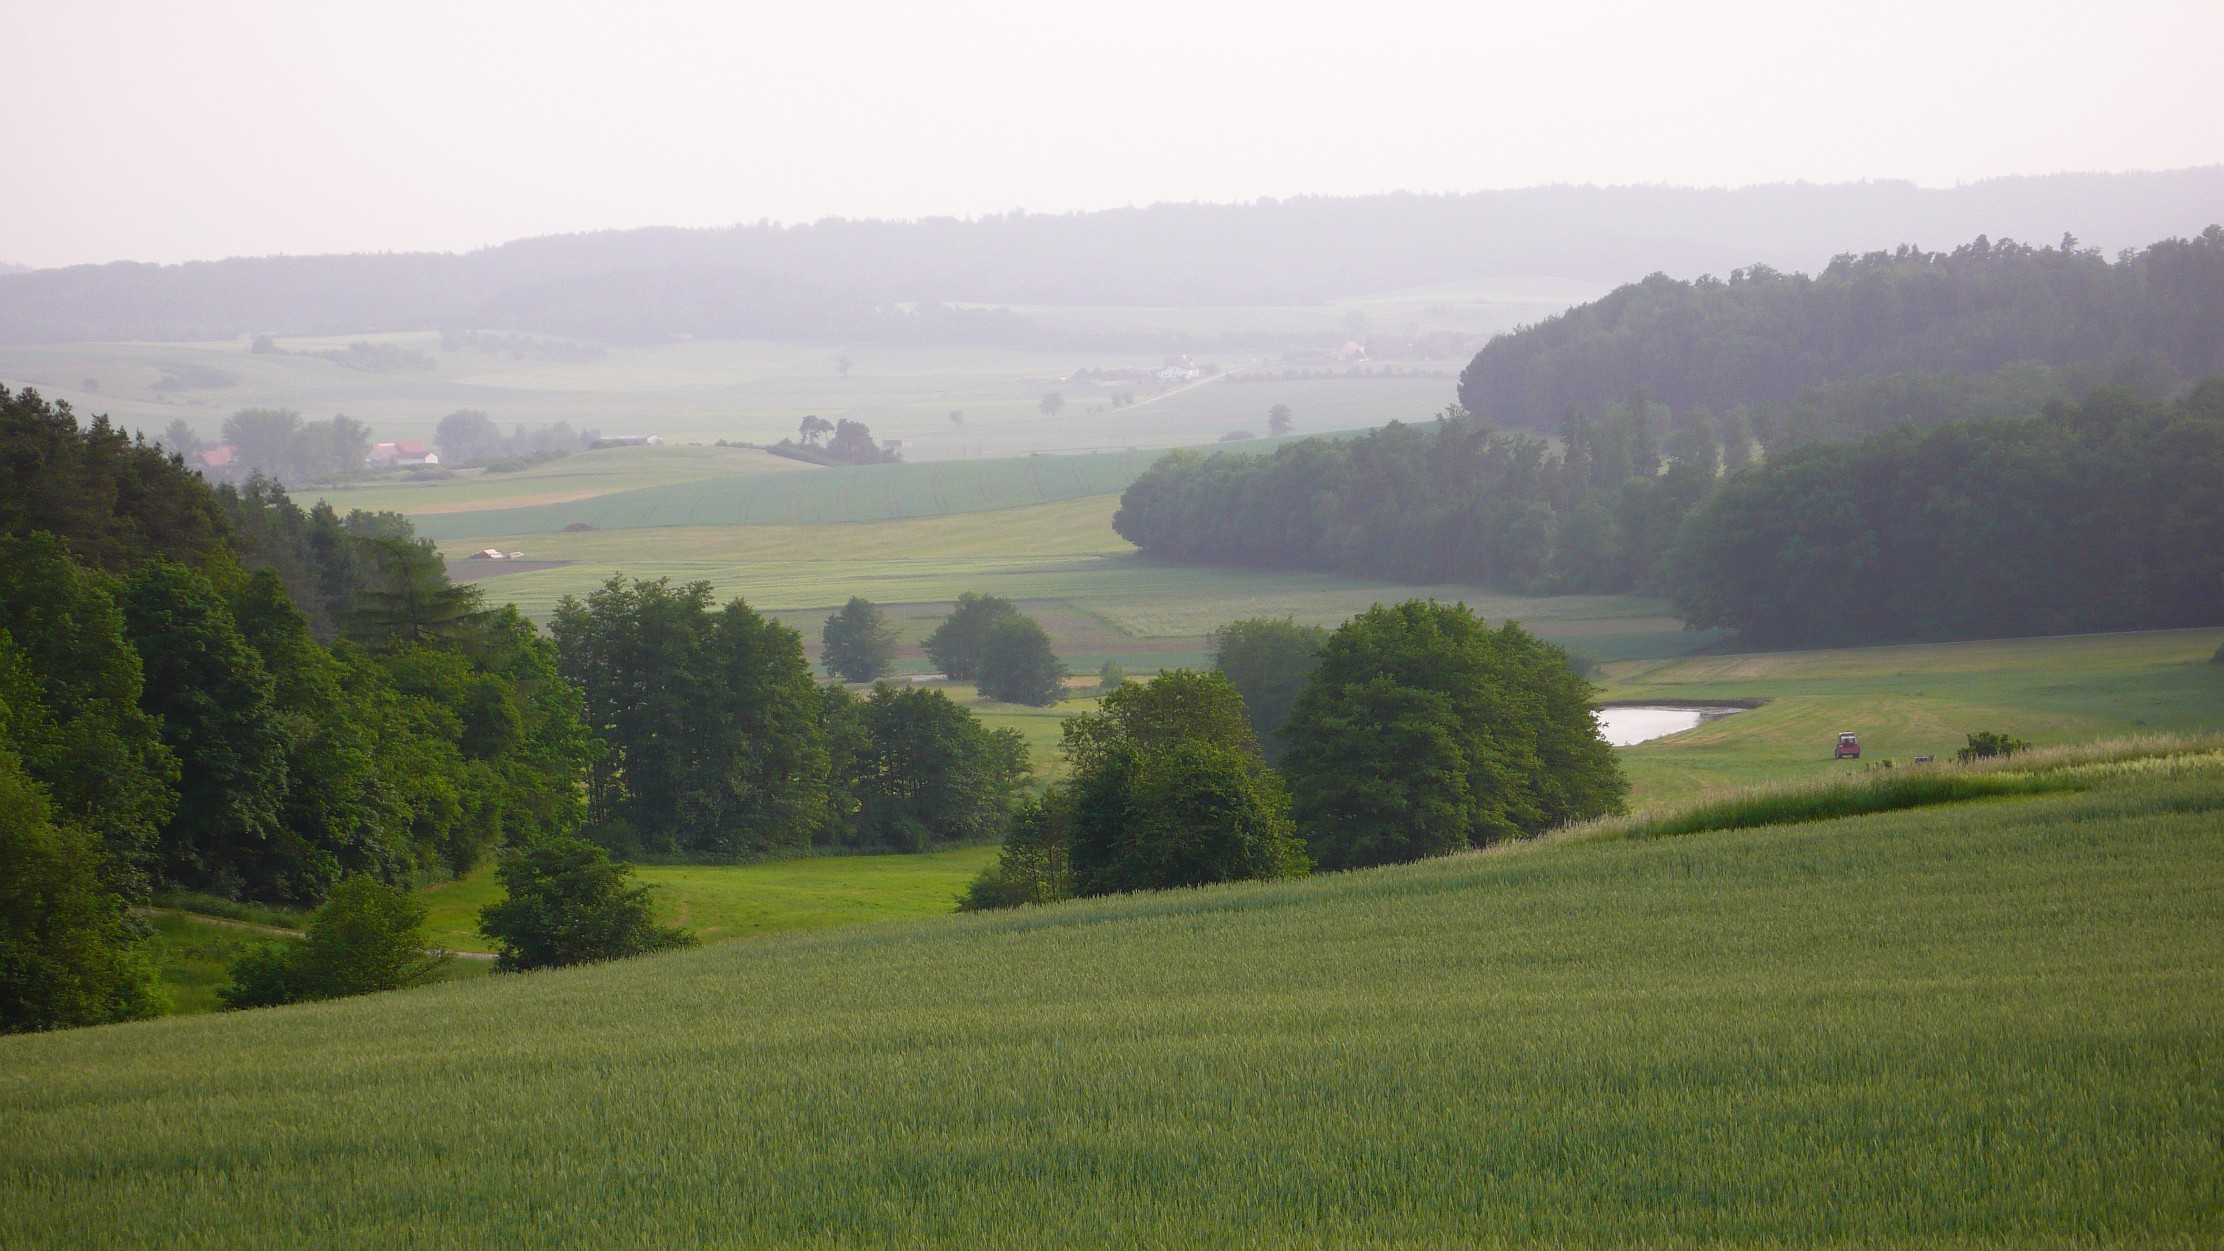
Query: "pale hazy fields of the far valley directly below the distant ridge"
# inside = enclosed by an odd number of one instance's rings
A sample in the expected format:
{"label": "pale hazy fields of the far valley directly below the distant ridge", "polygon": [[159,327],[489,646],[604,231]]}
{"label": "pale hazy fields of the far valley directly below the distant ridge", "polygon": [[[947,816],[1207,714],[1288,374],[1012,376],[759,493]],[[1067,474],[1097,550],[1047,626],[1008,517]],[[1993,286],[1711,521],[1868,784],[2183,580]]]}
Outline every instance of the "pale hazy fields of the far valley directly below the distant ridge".
{"label": "pale hazy fields of the far valley directly below the distant ridge", "polygon": [[[1568,303],[1530,301],[1519,307],[1557,312]],[[1475,321],[1472,312],[1472,305],[1468,312],[1454,307],[1452,321]],[[1141,325],[1141,334],[1152,332],[1150,321],[1210,325],[1214,338],[1219,327],[1254,321],[1243,309],[1114,309],[1108,316]],[[434,367],[376,374],[307,354],[363,338],[423,352]],[[1374,376],[1188,385],[1070,383],[1076,370],[1156,370],[1165,354],[1068,347],[705,338],[609,347],[596,361],[574,363],[443,352],[436,332],[280,336],[278,347],[287,354],[254,354],[247,347],[247,338],[0,345],[0,381],[38,387],[80,412],[111,414],[122,427],[149,436],[185,418],[214,441],[225,416],[242,407],[291,407],[307,418],[345,412],[369,423],[380,439],[429,439],[440,416],[474,407],[505,430],[569,421],[578,430],[658,434],[669,443],[772,443],[792,436],[796,423],[814,414],[863,421],[878,439],[903,439],[910,461],[963,461],[1179,447],[1214,443],[1239,430],[1265,434],[1265,414],[1277,403],[1288,405],[1299,432],[1308,434],[1419,421],[1452,403],[1452,376],[1463,365],[1399,361],[1397,376],[1377,365]],[[847,376],[838,370],[843,356],[850,358]],[[1288,367],[1245,352],[1197,347],[1192,356],[1199,365],[1214,363],[1230,372]],[[1330,365],[1312,361],[1301,367]],[[1048,392],[1065,398],[1056,416],[1036,407]],[[1114,392],[1134,394],[1136,403],[1114,407]],[[963,412],[963,421],[952,423],[952,412]]]}

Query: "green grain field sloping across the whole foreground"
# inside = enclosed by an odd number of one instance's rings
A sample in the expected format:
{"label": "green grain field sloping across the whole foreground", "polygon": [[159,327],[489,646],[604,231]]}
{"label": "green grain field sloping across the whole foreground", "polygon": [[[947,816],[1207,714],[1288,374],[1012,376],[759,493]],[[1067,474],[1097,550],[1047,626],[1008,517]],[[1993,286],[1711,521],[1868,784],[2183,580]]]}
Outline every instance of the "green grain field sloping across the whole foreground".
{"label": "green grain field sloping across the whole foreground", "polygon": [[0,1244],[2213,1244],[2139,777],[0,1040]]}

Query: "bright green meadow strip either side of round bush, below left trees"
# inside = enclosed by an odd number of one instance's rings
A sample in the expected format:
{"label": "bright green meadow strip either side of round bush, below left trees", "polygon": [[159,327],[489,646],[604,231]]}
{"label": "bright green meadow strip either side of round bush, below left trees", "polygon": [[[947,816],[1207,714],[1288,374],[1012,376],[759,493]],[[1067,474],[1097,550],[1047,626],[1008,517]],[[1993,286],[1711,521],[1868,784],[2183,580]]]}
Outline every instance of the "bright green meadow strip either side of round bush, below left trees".
{"label": "bright green meadow strip either side of round bush, below left trees", "polygon": [[[923,855],[823,855],[765,864],[643,864],[656,919],[703,942],[954,913],[994,846]],[[418,890],[425,930],[449,950],[494,950],[478,910],[503,897],[494,868]]]}

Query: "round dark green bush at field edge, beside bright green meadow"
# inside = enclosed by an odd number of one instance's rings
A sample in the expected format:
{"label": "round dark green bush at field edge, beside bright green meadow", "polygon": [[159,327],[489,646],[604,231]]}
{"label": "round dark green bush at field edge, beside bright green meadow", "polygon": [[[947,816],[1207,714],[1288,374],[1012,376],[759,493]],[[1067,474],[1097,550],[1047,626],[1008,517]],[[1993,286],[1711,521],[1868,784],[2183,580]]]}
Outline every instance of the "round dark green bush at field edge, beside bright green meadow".
{"label": "round dark green bush at field edge, beside bright green meadow", "polygon": [[478,933],[503,950],[500,973],[560,968],[694,946],[685,930],[658,926],[649,888],[603,848],[556,837],[503,857],[505,897],[478,913]]}

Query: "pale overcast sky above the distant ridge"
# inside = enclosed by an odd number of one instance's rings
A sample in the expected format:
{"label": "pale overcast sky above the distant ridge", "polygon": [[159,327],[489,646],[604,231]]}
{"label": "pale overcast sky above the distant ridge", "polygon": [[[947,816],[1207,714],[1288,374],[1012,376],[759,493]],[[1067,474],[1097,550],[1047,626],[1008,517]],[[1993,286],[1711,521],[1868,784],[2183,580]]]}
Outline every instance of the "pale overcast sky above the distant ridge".
{"label": "pale overcast sky above the distant ridge", "polygon": [[2224,162],[2224,0],[0,0],[0,260]]}

